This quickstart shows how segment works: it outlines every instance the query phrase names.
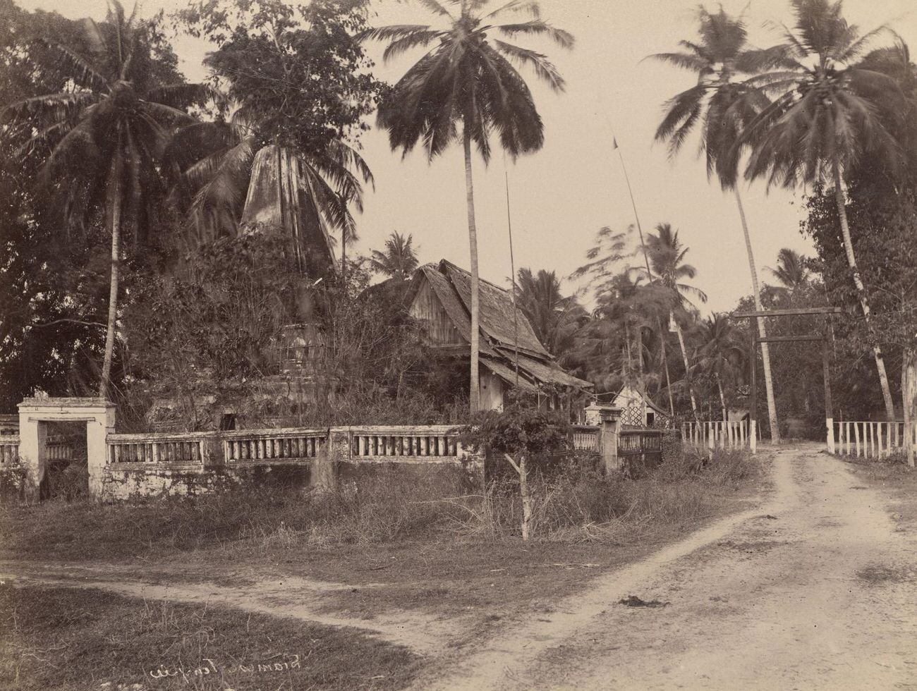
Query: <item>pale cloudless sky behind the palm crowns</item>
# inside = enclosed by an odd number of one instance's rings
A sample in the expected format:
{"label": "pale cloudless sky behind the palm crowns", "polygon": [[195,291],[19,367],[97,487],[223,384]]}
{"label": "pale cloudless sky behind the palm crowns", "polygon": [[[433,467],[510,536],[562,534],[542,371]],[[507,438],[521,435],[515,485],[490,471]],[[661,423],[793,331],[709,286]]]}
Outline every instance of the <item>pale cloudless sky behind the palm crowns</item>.
{"label": "pale cloudless sky behind the palm crowns", "polygon": [[[55,9],[70,17],[104,18],[105,0],[80,3],[17,0],[28,9]],[[126,5],[129,3],[126,2]],[[184,6],[183,0],[147,0],[144,14]],[[679,229],[691,247],[688,259],[698,269],[696,284],[710,296],[708,308],[722,312],[751,292],[745,244],[735,198],[708,183],[702,159],[691,140],[679,159],[670,161],[653,135],[662,104],[691,86],[691,74],[646,55],[677,49],[679,39],[695,36],[696,2],[691,0],[542,0],[542,16],[576,38],[574,49],[559,49],[540,39],[518,38],[526,48],[546,52],[567,80],[566,93],[553,93],[524,71],[545,122],[545,147],[509,163],[516,268],[556,269],[566,277],[583,263],[596,231],[603,225],[624,228],[634,214],[613,136],[622,148],[644,230],[659,222]],[[762,27],[768,20],[790,23],[785,0],[724,0],[725,10],[744,8],[751,41],[760,47],[777,42]],[[917,12],[912,0],[847,0],[845,16],[864,29],[891,22],[917,49]],[[714,11],[717,4],[708,4]],[[376,0],[370,22],[427,24],[436,18],[419,5]],[[182,37],[174,42],[189,79],[204,75],[207,44]],[[878,45],[878,44],[877,44]],[[376,74],[395,82],[421,55],[407,53]],[[370,46],[381,62],[381,45]],[[428,164],[422,150],[402,160],[392,153],[385,132],[363,137],[363,156],[376,178],[358,217],[359,250],[381,248],[392,230],[414,236],[422,261],[447,258],[469,266],[464,167],[460,145]],[[510,275],[503,187],[503,159],[490,168],[476,161],[475,194],[481,277],[503,284]],[[811,254],[799,233],[801,192],[765,193],[762,183],[743,187],[759,277],[768,280],[780,247]],[[568,285],[569,290],[572,287]]]}

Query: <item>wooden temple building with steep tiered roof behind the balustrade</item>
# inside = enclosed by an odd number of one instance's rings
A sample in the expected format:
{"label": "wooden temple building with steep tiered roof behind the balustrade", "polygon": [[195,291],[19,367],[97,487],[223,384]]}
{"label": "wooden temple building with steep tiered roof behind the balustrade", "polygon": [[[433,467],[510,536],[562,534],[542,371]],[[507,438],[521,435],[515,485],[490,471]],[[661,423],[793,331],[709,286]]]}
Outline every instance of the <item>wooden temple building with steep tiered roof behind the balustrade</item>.
{"label": "wooden temple building with steep tiered roof behind the balustrade", "polygon": [[[538,341],[525,314],[516,310],[509,291],[487,280],[480,284],[481,408],[499,410],[515,385],[544,397],[546,407],[578,397],[591,384],[558,366]],[[444,355],[470,358],[471,276],[443,259],[414,273],[409,296],[411,316],[421,324],[427,342]],[[516,338],[518,330],[518,339]]]}

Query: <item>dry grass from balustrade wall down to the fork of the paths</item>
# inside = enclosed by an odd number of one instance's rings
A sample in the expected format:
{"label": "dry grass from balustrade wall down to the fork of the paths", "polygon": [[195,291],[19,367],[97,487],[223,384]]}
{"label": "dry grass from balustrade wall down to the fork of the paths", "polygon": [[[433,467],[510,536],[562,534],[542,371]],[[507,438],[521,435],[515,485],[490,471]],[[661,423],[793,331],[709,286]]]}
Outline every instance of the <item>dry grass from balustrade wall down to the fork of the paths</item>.
{"label": "dry grass from balustrade wall down to the fork of the paths", "polygon": [[323,594],[329,612],[456,618],[470,634],[455,644],[475,644],[504,620],[549,612],[592,577],[746,506],[756,460],[717,454],[700,466],[669,461],[638,480],[581,469],[536,478],[529,543],[519,538],[512,483],[469,492],[458,469],[438,468],[386,470],[325,495],[263,490],[7,510],[2,556],[121,562],[123,577],[145,580],[343,582],[353,588]]}

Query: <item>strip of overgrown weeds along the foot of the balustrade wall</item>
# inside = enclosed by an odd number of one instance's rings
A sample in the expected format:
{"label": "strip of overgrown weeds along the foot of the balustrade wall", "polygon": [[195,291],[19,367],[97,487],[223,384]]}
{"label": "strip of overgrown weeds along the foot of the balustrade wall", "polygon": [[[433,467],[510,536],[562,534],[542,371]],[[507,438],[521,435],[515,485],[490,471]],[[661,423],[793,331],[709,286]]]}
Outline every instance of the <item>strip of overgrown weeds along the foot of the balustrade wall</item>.
{"label": "strip of overgrown weeds along the foot of the balustrade wall", "polygon": [[[690,525],[757,477],[747,454],[673,455],[647,477],[570,466],[532,478],[533,537],[622,543],[646,525]],[[384,468],[335,491],[248,488],[115,505],[49,501],[0,509],[6,556],[112,559],[213,546],[246,551],[406,540],[503,541],[519,533],[518,482],[470,490],[458,467]]]}

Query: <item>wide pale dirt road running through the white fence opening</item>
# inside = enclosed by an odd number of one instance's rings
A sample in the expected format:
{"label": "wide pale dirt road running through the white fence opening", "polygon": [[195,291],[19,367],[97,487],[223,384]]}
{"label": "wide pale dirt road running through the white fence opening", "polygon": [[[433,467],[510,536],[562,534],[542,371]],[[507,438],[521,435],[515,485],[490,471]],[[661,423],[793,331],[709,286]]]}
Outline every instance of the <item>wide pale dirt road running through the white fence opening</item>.
{"label": "wide pale dirt road running through the white fence opening", "polygon": [[[917,688],[917,540],[815,445],[759,509],[615,572],[417,688]],[[635,595],[668,603],[627,607]]]}

